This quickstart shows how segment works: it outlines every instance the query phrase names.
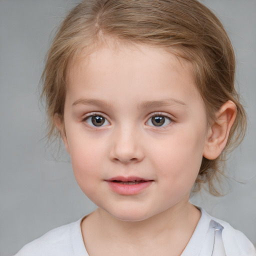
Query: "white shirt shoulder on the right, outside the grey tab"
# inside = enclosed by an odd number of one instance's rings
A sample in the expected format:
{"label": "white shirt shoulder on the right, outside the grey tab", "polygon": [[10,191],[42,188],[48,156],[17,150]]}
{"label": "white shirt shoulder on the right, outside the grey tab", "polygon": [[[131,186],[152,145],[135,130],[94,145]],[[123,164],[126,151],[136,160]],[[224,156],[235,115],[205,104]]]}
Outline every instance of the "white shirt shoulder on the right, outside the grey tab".
{"label": "white shirt shoulder on the right, outside the grey tab", "polygon": [[221,226],[221,237],[227,256],[256,256],[255,247],[241,231],[233,228],[224,220],[210,215],[209,217]]}

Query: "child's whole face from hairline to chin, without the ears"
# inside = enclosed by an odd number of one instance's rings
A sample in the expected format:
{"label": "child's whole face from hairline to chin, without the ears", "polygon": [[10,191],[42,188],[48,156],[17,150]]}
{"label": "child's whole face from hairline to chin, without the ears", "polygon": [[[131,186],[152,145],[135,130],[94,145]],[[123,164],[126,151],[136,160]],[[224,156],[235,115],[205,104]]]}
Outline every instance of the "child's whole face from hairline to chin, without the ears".
{"label": "child's whole face from hairline to chin, without the ears", "polygon": [[188,203],[208,128],[180,61],[150,46],[101,47],[69,70],[64,144],[82,191],[117,219]]}

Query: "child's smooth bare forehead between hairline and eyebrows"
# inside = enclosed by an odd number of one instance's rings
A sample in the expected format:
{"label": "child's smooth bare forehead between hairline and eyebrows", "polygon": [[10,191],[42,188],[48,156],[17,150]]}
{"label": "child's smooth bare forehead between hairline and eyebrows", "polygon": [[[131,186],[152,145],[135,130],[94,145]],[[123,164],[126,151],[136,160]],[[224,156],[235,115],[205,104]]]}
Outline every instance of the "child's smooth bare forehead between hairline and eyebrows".
{"label": "child's smooth bare forehead between hairline and eyebrows", "polygon": [[174,96],[182,91],[187,97],[189,93],[198,96],[189,62],[164,48],[148,45],[101,45],[89,54],[83,52],[69,67],[67,76],[67,92],[73,94],[77,89],[117,89],[127,95],[153,97],[152,91],[164,95],[169,85]]}

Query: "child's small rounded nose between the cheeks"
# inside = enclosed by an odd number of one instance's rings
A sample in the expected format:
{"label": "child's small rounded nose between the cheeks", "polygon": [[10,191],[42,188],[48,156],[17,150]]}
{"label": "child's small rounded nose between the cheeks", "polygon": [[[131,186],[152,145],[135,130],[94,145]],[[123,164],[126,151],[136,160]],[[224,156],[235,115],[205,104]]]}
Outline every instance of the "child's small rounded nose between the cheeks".
{"label": "child's small rounded nose between the cheeks", "polygon": [[[141,137],[132,127],[123,127],[113,131],[109,157],[112,161],[128,164],[140,162],[144,158]],[[139,138],[140,137],[140,138]]]}

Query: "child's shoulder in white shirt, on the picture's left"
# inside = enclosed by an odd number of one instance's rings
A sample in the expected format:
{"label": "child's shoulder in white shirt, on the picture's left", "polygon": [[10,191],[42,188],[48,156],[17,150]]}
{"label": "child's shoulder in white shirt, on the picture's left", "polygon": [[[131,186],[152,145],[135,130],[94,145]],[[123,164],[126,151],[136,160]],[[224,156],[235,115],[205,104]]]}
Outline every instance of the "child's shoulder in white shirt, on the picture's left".
{"label": "child's shoulder in white shirt, on the picture's left", "polygon": [[76,255],[73,250],[74,243],[78,243],[82,249],[84,248],[80,221],[81,219],[48,231],[41,237],[27,243],[14,256]]}

